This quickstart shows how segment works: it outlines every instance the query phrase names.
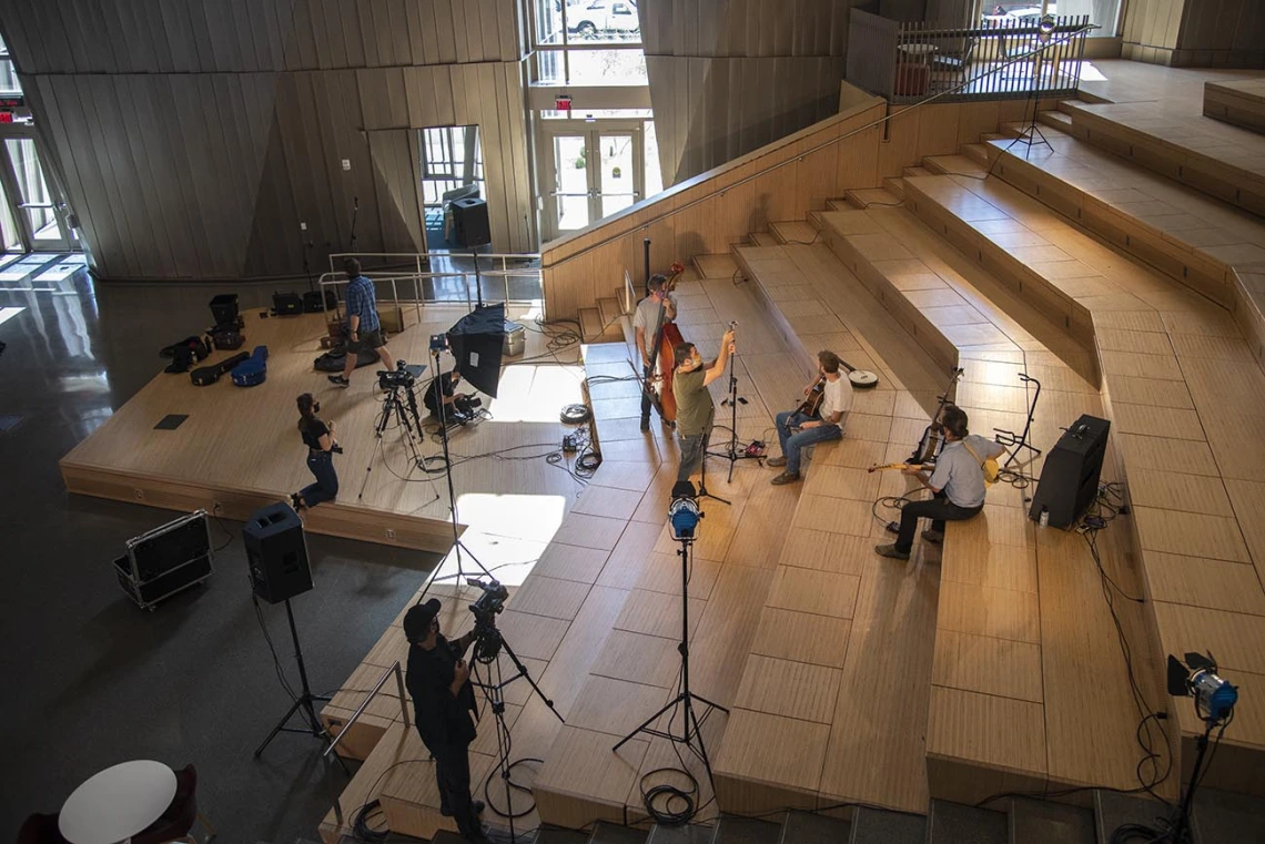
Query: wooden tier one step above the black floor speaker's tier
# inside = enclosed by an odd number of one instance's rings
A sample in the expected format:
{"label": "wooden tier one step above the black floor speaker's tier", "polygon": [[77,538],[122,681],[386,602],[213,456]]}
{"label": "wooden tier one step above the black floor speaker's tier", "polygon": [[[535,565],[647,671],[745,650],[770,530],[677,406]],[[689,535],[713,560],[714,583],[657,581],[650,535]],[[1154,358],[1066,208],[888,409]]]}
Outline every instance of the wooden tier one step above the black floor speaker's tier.
{"label": "wooden tier one step above the black floor speaker's tier", "polygon": [[[1233,320],[997,179],[911,179],[910,190],[917,195],[912,208],[972,260],[1017,260],[1090,312],[1112,441],[1133,507],[1128,521],[1157,644],[1152,660],[1211,649],[1223,673],[1245,687],[1265,685],[1265,534],[1257,527],[1265,374]],[[999,226],[1027,245],[1008,254],[989,239]],[[1051,272],[1066,262],[1080,262],[1085,274]],[[1170,705],[1188,764],[1202,725],[1185,700]],[[1208,782],[1260,793],[1265,706],[1241,706],[1232,732]]]}

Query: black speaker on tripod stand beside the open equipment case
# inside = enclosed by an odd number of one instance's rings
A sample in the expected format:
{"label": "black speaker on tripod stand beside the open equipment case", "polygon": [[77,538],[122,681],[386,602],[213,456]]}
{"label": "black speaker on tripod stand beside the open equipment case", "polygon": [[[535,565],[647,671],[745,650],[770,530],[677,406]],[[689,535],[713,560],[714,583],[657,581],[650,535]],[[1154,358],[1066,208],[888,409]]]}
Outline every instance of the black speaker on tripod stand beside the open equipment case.
{"label": "black speaker on tripod stand beside the open equipment case", "polygon": [[312,588],[304,523],[288,504],[256,510],[242,529],[250,588],[269,604],[280,604]]}

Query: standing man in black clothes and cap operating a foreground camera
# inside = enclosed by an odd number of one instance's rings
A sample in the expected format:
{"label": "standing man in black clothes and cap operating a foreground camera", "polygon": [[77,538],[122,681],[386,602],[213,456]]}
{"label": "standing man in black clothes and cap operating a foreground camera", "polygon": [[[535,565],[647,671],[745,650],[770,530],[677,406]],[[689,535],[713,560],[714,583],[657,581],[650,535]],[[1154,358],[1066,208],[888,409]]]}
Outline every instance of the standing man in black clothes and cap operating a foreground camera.
{"label": "standing man in black clothes and cap operating a foreground camera", "polygon": [[474,630],[449,642],[439,632],[439,599],[417,604],[404,617],[409,639],[405,685],[412,697],[414,723],[423,744],[435,758],[440,814],[457,821],[460,834],[487,840],[478,814],[483,801],[471,799],[469,745],[474,740],[474,687],[462,656],[474,642]]}

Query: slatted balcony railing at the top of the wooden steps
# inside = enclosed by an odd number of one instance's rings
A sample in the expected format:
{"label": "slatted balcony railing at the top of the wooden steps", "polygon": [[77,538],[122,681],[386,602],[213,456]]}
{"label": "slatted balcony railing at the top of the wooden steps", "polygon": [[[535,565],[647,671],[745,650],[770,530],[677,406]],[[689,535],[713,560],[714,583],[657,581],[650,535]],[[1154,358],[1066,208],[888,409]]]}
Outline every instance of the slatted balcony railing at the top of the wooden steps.
{"label": "slatted balcony railing at the top of the wooden steps", "polygon": [[848,81],[892,104],[1073,96],[1092,28],[1077,15],[1055,18],[1045,35],[1017,18],[944,29],[854,9]]}

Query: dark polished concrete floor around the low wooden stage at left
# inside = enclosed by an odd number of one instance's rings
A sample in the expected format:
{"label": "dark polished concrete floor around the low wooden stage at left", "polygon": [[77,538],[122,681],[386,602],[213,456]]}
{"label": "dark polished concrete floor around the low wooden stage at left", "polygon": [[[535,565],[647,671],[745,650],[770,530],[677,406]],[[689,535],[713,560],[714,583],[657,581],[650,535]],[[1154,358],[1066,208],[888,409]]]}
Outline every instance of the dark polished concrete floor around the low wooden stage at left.
{"label": "dark polished concrete floor around the low wooden stage at left", "polygon": [[[237,292],[254,307],[273,288],[96,288],[82,269],[57,279],[48,260],[20,278],[0,272],[0,838],[32,811],[57,811],[101,768],[152,758],[197,766],[199,804],[223,841],[316,839],[342,771],[304,735],[252,758],[290,700],[252,606],[240,524],[213,524],[218,542],[231,541],[204,588],[147,613],[119,589],[111,560],[177,514],[68,495],[57,470],[162,369],[162,346],[205,329],[213,296]],[[320,536],[307,547],[316,586],[293,608],[320,692],[357,666],[435,558]],[[263,615],[296,685],[285,612],[263,605]]]}

